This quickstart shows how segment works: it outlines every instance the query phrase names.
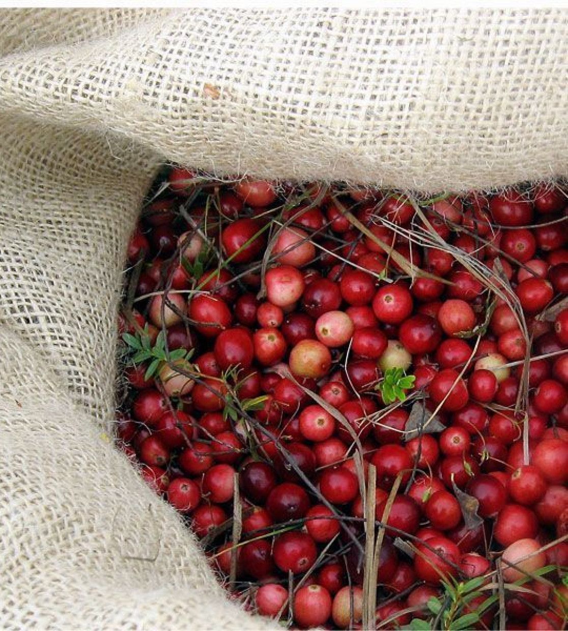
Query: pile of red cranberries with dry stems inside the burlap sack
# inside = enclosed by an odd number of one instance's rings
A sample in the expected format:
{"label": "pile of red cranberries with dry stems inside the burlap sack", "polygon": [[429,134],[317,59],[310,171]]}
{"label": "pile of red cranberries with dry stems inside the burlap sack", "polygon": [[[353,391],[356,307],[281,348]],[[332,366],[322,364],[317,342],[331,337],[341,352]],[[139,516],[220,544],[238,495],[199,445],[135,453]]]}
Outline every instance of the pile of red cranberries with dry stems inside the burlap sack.
{"label": "pile of red cranberries with dry stems inside the burlap sack", "polygon": [[163,172],[128,249],[117,435],[234,598],[362,628],[374,467],[377,628],[474,577],[472,628],[563,627],[567,209],[560,184],[414,201]]}

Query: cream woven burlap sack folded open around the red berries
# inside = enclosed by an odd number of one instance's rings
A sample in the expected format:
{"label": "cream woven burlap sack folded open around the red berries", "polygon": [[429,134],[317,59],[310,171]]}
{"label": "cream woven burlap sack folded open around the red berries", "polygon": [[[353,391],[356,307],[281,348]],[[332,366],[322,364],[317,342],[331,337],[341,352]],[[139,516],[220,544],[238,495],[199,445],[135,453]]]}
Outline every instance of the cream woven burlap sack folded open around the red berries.
{"label": "cream woven burlap sack folded open around the red berries", "polygon": [[110,442],[164,159],[420,191],[567,173],[565,11],[0,11],[0,626],[270,628]]}

